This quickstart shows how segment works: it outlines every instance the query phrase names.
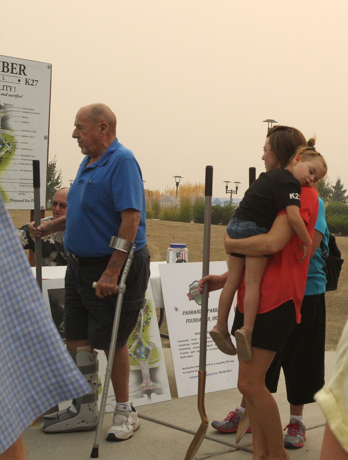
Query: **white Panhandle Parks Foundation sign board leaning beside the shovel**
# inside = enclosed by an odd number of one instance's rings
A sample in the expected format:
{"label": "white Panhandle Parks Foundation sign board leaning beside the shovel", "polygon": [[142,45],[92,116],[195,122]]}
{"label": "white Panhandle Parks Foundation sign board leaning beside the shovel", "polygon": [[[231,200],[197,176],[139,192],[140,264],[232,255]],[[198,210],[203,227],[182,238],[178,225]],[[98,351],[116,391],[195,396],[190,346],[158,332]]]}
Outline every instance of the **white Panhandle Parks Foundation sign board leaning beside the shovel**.
{"label": "white Panhandle Parks Foundation sign board leaning beside the shovel", "polygon": [[[178,396],[196,395],[201,328],[201,296],[197,284],[202,277],[202,262],[163,264],[159,265],[159,270]],[[210,262],[210,274],[220,275],[226,270],[226,262]],[[221,290],[209,294],[208,331],[216,324],[220,293]],[[233,319],[234,310],[231,308],[229,329]],[[236,388],[238,359],[219,351],[209,334],[206,370],[207,393]]]}

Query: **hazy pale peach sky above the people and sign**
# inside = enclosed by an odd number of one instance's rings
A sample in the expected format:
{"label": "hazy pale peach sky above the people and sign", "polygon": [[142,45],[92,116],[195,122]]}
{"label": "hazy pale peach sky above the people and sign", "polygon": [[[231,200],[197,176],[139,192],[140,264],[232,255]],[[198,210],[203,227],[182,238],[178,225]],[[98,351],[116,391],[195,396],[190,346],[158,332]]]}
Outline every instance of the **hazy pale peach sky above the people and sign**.
{"label": "hazy pale peach sky above the people and sign", "polygon": [[[10,16],[11,13],[11,16]],[[103,102],[146,188],[257,175],[272,118],[317,136],[328,175],[348,188],[348,3],[316,0],[17,0],[0,53],[52,63],[50,159],[63,185],[82,155],[76,111]],[[6,24],[7,23],[7,26]]]}

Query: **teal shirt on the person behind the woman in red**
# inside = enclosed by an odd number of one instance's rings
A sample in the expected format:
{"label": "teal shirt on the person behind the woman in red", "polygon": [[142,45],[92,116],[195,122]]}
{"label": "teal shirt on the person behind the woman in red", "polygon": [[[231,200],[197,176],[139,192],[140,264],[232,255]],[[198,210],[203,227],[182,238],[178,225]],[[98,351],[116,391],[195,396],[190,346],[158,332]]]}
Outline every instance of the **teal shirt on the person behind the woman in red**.
{"label": "teal shirt on the person behind the woman in red", "polygon": [[[319,198],[318,218],[314,228],[323,234],[321,241],[324,243],[324,249],[327,253],[329,253],[329,247],[327,246],[329,241],[329,230],[327,229],[325,219],[325,205],[321,198]],[[325,262],[323,259],[323,253],[319,246],[315,251],[314,256],[309,259],[307,284],[304,295],[322,294],[325,292],[326,276],[324,267]]]}

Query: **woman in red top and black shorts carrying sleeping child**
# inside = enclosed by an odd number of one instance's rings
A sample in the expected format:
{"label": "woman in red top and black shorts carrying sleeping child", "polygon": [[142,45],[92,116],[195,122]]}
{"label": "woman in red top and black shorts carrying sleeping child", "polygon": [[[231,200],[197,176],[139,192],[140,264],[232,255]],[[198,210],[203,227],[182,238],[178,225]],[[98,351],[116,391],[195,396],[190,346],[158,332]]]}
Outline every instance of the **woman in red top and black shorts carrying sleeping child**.
{"label": "woman in red top and black shorts carrying sleeping child", "polygon": [[[295,128],[271,128],[264,145],[263,160],[266,171],[286,167],[299,146],[309,147],[301,151],[302,155],[307,152],[314,153],[314,139],[307,144],[302,133]],[[300,161],[304,163],[307,159],[303,157]],[[316,162],[315,180],[325,173],[325,161]],[[317,192],[312,187],[303,186],[300,201],[300,215],[312,239],[318,213]],[[225,238],[227,253],[242,253],[253,257],[275,254],[268,259],[259,289],[251,359],[239,360],[238,388],[247,398],[247,410],[253,431],[253,460],[289,458],[283,445],[279,411],[265,386],[265,374],[275,353],[282,349],[301,318],[300,307],[306,285],[309,255],[303,262],[300,261],[302,253],[299,248],[302,247],[303,240],[294,233],[286,211],[281,211],[268,233],[238,240],[230,239],[226,234]],[[222,288],[227,278],[228,273],[208,276],[201,284],[208,281],[209,290],[215,290]],[[243,280],[238,290],[238,308],[232,333],[243,327],[245,290]]]}

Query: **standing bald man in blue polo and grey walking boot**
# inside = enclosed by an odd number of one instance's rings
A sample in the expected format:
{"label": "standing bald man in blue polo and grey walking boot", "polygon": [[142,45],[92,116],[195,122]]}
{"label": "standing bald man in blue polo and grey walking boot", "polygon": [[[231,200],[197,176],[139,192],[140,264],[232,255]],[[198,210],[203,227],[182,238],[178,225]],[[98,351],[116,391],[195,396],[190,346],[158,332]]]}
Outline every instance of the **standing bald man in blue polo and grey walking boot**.
{"label": "standing bald man in blue polo and grey walking boot", "polygon": [[[111,236],[135,242],[134,259],[118,328],[111,381],[117,405],[107,440],[120,441],[139,428],[129,403],[127,339],[137,322],[150,276],[146,247],[146,207],[140,167],[133,153],[116,138],[116,117],[104,104],[79,109],[73,138],[84,155],[67,196],[66,217],[32,227],[42,236],[65,230],[71,254],[65,277],[67,349],[85,378],[95,384],[86,397],[65,411],[44,417],[45,432],[93,430],[97,424],[97,361],[94,349],[108,355],[117,299],[117,284],[127,253],[109,247]],[[97,281],[96,289],[92,283]]]}

